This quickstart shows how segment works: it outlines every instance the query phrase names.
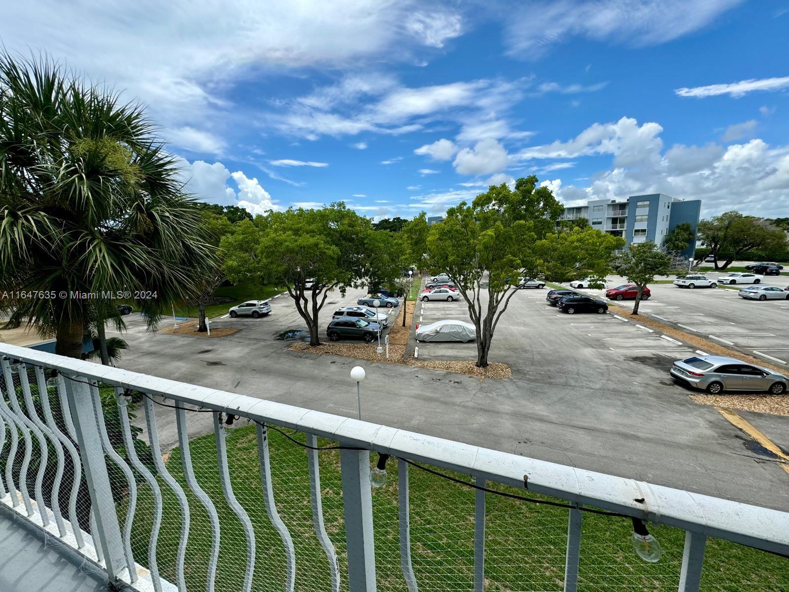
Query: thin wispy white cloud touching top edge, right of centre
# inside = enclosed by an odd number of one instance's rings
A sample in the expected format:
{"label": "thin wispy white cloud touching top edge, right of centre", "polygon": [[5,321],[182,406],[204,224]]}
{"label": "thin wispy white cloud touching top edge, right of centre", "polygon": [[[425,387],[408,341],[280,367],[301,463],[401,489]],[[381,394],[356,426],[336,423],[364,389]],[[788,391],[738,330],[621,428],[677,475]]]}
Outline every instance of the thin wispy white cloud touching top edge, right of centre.
{"label": "thin wispy white cloud touching top edge, right of centre", "polygon": [[[742,0],[542,0],[506,13],[509,54],[534,58],[572,37],[637,47],[697,31]],[[504,16],[504,15],[503,15]]]}

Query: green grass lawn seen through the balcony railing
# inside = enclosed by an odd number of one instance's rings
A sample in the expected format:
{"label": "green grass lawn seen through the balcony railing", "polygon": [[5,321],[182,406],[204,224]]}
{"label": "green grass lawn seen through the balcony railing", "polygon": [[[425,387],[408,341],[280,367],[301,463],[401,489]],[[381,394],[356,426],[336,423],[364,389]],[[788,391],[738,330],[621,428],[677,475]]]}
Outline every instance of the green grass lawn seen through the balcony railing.
{"label": "green grass lawn seen through the balcony railing", "polygon": [[[296,434],[294,434],[296,436]],[[298,437],[303,441],[303,437]],[[290,529],[296,549],[296,590],[329,590],[326,556],[312,530],[307,456],[303,448],[279,433],[269,433],[271,475],[279,515]],[[321,441],[320,445],[330,444]],[[216,590],[241,590],[246,542],[234,513],[222,497],[212,435],[190,445],[197,480],[214,500],[221,523]],[[256,564],[252,590],[285,589],[285,554],[264,511],[254,425],[233,429],[227,438],[230,478],[237,500],[255,528]],[[338,451],[321,451],[321,491],[326,529],[337,550],[342,572],[341,590],[347,590],[346,545],[342,512],[342,485]],[[375,462],[376,455],[371,455]],[[178,449],[167,467],[185,490]],[[398,539],[398,475],[396,459],[387,465],[388,481],[373,490],[376,575],[378,590],[406,590],[400,571]],[[160,480],[161,481],[161,480]],[[471,590],[473,582],[474,491],[463,485],[411,468],[409,470],[411,553],[420,590]],[[490,484],[488,484],[490,485]],[[175,557],[181,519],[178,501],[163,483],[163,526],[156,551],[163,577],[175,581]],[[496,486],[519,493],[522,490]],[[199,501],[188,493],[191,530],[186,549],[186,579],[190,590],[204,590],[208,569],[210,527]],[[485,590],[562,590],[567,535],[567,510],[529,504],[487,494],[485,538]],[[121,504],[123,505],[123,504]],[[151,493],[139,489],[133,523],[133,552],[148,564],[152,522]],[[125,515],[125,508],[119,508]],[[664,549],[657,564],[645,564],[630,548],[627,519],[584,515],[578,590],[676,590],[682,563],[681,530],[668,526],[651,529]],[[710,539],[702,590],[775,592],[789,590],[787,561],[740,545]]]}

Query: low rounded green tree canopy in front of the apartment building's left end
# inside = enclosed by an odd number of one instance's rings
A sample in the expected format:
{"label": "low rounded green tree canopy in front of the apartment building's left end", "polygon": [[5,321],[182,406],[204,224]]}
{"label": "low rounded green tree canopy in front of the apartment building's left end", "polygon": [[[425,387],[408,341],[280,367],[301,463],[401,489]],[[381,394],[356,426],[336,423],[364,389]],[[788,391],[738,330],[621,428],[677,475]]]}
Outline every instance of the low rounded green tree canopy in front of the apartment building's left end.
{"label": "low rounded green tree canopy in front of the apartment building's left end", "polygon": [[548,234],[535,243],[533,253],[541,261],[537,267],[545,279],[561,283],[592,277],[602,283],[611,271],[613,252],[624,245],[622,237],[593,227],[578,227]]}

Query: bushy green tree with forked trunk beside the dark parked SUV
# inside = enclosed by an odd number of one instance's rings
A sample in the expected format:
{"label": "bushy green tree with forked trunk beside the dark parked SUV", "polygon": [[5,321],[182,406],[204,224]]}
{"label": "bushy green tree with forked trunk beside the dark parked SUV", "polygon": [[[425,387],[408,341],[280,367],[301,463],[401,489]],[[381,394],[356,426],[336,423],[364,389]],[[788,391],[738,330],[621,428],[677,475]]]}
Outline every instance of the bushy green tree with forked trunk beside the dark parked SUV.
{"label": "bushy green tree with forked trunk beside the dark parked SUV", "polygon": [[256,278],[287,288],[307,324],[310,345],[318,346],[318,316],[329,292],[344,293],[369,273],[365,244],[372,232],[368,219],[338,202],[318,210],[258,215],[254,223],[238,223],[220,245],[230,281]]}

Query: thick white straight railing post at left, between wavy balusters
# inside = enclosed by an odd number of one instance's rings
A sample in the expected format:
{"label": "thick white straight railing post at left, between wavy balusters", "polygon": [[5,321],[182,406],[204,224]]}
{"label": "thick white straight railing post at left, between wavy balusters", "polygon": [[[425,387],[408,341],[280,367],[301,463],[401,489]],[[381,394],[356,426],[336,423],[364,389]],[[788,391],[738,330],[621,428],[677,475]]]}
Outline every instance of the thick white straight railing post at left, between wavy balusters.
{"label": "thick white straight railing post at left, between wavy balusters", "polygon": [[110,576],[110,581],[113,581],[125,570],[126,558],[121,527],[118,524],[118,515],[115,513],[110,478],[107,475],[104,449],[99,436],[99,425],[96,423],[96,413],[102,413],[102,410],[95,409],[90,388],[90,384],[84,378],[69,380],[69,377],[66,377],[65,392],[77,432],[77,444],[80,446],[85,480],[88,483],[88,493],[91,496],[92,511],[98,530],[98,533],[91,534],[94,543],[96,534],[99,535],[99,545],[102,547],[107,575]]}

